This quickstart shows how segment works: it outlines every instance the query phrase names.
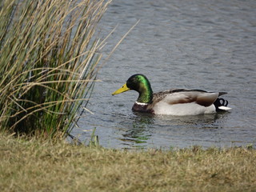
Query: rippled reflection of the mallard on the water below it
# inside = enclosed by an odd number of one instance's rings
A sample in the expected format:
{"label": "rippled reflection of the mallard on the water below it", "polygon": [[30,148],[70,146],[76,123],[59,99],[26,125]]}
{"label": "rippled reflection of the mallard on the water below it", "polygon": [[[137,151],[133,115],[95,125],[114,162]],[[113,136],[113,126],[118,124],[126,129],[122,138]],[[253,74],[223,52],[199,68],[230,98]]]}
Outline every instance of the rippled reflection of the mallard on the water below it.
{"label": "rippled reflection of the mallard on the water below it", "polygon": [[[223,115],[226,114],[202,114],[178,117],[134,112],[134,115],[129,118],[130,123],[127,123],[127,121],[120,122],[123,126],[122,130],[124,133],[119,140],[121,140],[123,142],[122,144],[125,146],[145,148],[148,146],[150,140],[152,140],[155,132],[168,136],[181,129],[185,132],[191,132],[194,129],[204,131],[221,128],[218,126],[218,123],[215,122],[218,121],[218,119],[222,119]],[[152,144],[154,146],[154,143]]]}

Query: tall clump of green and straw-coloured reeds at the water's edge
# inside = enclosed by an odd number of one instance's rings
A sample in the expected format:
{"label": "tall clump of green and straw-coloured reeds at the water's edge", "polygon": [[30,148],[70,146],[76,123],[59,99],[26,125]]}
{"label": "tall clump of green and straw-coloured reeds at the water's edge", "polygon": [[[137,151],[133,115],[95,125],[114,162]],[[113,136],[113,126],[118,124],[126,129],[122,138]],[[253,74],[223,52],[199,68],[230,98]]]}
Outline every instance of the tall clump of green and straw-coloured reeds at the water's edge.
{"label": "tall clump of green and straw-coloured reeds at the water's edge", "polygon": [[63,138],[96,81],[104,0],[0,2],[0,130]]}

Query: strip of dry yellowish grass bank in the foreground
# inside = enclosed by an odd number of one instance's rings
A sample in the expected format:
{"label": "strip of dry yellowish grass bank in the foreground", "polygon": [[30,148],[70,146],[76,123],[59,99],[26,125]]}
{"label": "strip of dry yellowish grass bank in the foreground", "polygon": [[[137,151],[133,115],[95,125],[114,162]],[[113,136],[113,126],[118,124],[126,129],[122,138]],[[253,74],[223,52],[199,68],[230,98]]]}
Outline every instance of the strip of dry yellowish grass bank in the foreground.
{"label": "strip of dry yellowish grass bank in the foreground", "polygon": [[0,136],[1,191],[255,191],[256,150],[123,151]]}

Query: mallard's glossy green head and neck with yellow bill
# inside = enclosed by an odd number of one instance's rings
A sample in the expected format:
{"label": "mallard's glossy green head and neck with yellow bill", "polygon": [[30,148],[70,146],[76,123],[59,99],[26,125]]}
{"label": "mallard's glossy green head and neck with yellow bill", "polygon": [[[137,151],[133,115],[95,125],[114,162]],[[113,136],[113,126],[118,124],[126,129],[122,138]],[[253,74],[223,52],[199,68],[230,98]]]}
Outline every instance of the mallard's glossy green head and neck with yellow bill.
{"label": "mallard's glossy green head and neck with yellow bill", "polygon": [[118,90],[114,91],[114,94],[121,94],[127,90],[136,90],[138,91],[138,100],[137,102],[149,103],[152,101],[153,91],[150,86],[150,81],[143,74],[134,74],[126,83]]}

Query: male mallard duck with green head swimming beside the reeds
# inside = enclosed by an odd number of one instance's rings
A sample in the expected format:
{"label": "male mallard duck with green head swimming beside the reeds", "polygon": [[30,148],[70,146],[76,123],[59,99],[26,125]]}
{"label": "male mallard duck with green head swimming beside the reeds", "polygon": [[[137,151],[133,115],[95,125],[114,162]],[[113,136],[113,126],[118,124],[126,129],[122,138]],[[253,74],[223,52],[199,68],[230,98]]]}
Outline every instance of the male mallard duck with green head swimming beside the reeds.
{"label": "male mallard duck with green head swimming beside the reeds", "polygon": [[218,98],[226,92],[207,92],[205,90],[172,89],[154,93],[150,82],[143,74],[132,75],[127,82],[114,94],[121,94],[127,90],[138,92],[137,102],[132,110],[151,114],[197,115],[212,114],[226,111],[228,102]]}

